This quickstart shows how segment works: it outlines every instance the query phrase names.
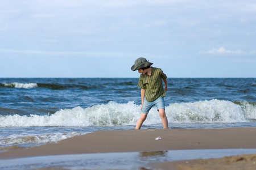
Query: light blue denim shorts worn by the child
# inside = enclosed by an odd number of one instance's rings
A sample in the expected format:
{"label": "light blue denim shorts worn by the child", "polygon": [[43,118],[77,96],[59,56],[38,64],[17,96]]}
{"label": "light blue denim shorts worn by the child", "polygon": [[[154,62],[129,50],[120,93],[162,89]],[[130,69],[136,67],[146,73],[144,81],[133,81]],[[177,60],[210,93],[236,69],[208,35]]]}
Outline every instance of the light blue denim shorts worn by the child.
{"label": "light blue denim shorts worn by the child", "polygon": [[147,114],[153,106],[155,106],[158,110],[165,109],[163,97],[158,97],[158,99],[154,101],[147,101],[145,98],[141,112]]}

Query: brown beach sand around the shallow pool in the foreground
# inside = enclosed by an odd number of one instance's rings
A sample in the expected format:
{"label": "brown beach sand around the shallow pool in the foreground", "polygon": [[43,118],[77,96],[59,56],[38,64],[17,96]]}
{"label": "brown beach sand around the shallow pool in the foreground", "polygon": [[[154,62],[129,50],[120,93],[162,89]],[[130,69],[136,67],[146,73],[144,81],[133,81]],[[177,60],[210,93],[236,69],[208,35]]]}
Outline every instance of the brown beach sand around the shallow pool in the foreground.
{"label": "brown beach sand around the shallow pool in the foreground", "polygon": [[[108,152],[256,148],[255,130],[255,128],[226,128],[96,131],[64,139],[58,143],[1,152],[0,159]],[[158,137],[160,139],[155,140]],[[250,160],[251,164],[255,164],[255,155],[249,157],[241,160]],[[221,159],[214,161],[221,162]],[[158,169],[161,166],[166,167],[166,169],[170,169],[170,167],[189,169],[189,166],[193,166],[193,163],[199,164],[199,162],[203,165],[207,164],[201,160],[195,160],[189,164],[183,161],[152,164],[150,166],[153,169]],[[212,167],[211,164],[209,166]],[[162,169],[164,169],[163,167]]]}

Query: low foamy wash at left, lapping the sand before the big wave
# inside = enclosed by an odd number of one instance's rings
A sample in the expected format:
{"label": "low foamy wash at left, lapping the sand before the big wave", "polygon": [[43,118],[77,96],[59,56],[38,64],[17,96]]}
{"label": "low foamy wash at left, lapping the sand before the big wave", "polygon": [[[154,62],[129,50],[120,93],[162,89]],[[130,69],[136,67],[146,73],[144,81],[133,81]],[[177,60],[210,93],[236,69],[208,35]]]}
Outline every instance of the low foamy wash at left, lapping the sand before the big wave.
{"label": "low foamy wash at left, lapping the sand before the big wave", "polygon": [[0,145],[12,145],[23,143],[53,143],[63,139],[71,138],[81,133],[52,133],[52,134],[19,134],[1,137]]}

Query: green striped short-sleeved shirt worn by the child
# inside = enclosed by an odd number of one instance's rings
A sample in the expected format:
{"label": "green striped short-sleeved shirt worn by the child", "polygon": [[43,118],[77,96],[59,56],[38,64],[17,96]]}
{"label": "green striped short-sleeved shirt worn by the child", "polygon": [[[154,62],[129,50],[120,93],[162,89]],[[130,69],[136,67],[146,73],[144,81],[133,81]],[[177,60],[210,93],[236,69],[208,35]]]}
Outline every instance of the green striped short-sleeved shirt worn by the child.
{"label": "green striped short-sleeved shirt worn by the child", "polygon": [[166,78],[167,76],[163,73],[162,69],[155,67],[152,67],[151,75],[141,74],[138,86],[146,90],[145,96],[147,101],[154,101],[158,97],[166,96],[162,80]]}

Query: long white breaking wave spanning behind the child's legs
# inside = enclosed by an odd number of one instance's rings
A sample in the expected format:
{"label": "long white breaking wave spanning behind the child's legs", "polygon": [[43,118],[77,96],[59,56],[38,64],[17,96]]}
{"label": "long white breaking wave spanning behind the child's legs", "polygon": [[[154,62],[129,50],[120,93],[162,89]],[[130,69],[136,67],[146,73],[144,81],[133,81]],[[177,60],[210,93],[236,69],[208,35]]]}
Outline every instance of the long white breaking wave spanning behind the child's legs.
{"label": "long white breaking wave spanning behind the child's legs", "polygon": [[[141,114],[140,108],[133,101],[125,104],[110,101],[108,104],[89,108],[60,109],[54,114],[44,116],[14,114],[0,116],[0,127],[135,125]],[[170,124],[249,122],[256,119],[256,105],[246,101],[236,104],[213,99],[195,103],[173,103],[166,107],[166,114]],[[156,108],[150,110],[144,122],[144,125],[151,124],[162,124]]]}

